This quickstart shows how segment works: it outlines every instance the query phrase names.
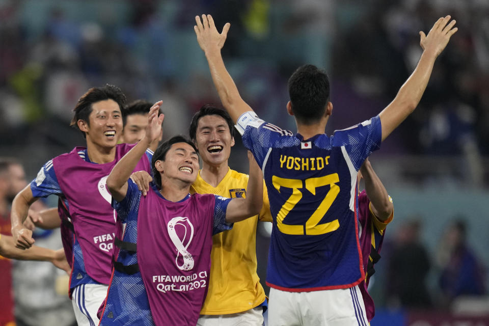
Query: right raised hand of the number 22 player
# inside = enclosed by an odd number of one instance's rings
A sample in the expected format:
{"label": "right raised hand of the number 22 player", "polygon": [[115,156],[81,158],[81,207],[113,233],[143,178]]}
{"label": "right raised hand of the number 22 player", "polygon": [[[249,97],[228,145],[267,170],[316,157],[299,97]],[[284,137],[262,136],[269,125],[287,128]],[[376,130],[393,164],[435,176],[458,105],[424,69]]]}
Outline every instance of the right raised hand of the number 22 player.
{"label": "right raised hand of the number 22 player", "polygon": [[[445,46],[447,46],[450,37],[458,31],[458,28],[453,27],[456,21],[450,21],[450,18],[451,16],[448,15],[438,19],[428,35],[425,35],[423,31],[419,32],[419,35],[421,36],[419,44],[423,50],[431,51],[436,57],[442,53]],[[448,23],[449,21],[450,23]]]}

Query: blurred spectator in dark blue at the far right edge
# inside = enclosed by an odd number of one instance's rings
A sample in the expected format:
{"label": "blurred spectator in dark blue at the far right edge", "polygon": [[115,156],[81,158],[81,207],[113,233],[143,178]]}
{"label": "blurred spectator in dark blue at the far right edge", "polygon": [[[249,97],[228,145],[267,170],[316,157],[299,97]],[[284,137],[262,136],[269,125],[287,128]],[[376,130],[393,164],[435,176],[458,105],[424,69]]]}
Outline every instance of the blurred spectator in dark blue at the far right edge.
{"label": "blurred spectator in dark blue at the far right edge", "polygon": [[445,230],[438,246],[437,262],[441,268],[440,289],[443,307],[449,307],[460,295],[486,293],[485,266],[467,243],[465,219],[453,221]]}

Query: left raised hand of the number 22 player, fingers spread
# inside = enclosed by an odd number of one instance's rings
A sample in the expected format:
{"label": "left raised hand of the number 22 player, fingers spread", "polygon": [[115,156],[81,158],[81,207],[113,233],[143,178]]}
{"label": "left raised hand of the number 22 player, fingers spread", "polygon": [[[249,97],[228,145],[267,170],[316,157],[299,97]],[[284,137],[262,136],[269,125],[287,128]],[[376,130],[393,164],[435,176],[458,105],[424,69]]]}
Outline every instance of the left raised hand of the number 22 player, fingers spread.
{"label": "left raised hand of the number 22 player, fingers spread", "polygon": [[226,23],[223,32],[220,34],[215,28],[214,20],[211,15],[202,15],[202,21],[199,16],[195,16],[197,25],[194,26],[195,34],[200,48],[207,53],[209,50],[221,50],[226,42],[230,23]]}

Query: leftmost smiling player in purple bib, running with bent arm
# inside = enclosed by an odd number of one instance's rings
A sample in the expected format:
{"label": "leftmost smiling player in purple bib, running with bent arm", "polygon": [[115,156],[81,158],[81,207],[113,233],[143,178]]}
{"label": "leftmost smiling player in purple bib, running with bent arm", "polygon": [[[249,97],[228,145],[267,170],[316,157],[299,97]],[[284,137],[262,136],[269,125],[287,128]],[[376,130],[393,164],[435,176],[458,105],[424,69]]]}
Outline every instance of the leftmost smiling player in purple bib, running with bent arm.
{"label": "leftmost smiling player in purple bib, running with bent arm", "polygon": [[[115,86],[91,88],[74,108],[71,124],[84,135],[87,147],[75,147],[49,160],[37,178],[15,197],[12,235],[16,247],[32,246],[32,231],[22,226],[29,206],[40,197],[57,195],[65,254],[72,267],[70,295],[79,326],[98,322],[97,310],[111,278],[116,212],[105,180],[132,146],[117,145],[122,132],[125,96]],[[138,170],[151,171],[147,151]]]}

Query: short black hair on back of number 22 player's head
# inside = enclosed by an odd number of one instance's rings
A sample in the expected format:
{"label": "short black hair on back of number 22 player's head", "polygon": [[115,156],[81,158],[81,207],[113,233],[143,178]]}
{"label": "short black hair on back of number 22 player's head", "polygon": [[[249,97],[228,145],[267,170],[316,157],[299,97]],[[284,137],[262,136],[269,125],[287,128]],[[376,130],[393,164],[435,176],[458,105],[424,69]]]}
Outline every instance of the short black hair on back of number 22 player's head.
{"label": "short black hair on back of number 22 player's head", "polygon": [[314,65],[304,65],[290,76],[290,102],[295,118],[305,124],[316,122],[324,115],[330,97],[328,75]]}

